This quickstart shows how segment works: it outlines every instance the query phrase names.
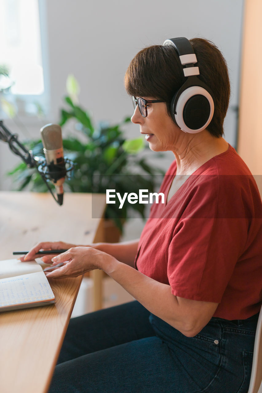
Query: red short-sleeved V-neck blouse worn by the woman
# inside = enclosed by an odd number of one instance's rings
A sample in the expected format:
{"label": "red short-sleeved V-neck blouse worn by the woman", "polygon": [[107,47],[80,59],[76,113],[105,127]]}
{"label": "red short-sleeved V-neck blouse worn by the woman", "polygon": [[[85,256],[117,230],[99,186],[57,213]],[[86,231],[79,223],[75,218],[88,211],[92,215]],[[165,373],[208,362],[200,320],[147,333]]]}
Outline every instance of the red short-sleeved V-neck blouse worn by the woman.
{"label": "red short-sleeved V-neck blouse worn by the woman", "polygon": [[[174,161],[159,190],[165,201],[175,173]],[[166,205],[152,205],[135,266],[169,284],[175,296],[219,303],[215,317],[245,319],[259,312],[262,202],[232,146],[201,165]]]}

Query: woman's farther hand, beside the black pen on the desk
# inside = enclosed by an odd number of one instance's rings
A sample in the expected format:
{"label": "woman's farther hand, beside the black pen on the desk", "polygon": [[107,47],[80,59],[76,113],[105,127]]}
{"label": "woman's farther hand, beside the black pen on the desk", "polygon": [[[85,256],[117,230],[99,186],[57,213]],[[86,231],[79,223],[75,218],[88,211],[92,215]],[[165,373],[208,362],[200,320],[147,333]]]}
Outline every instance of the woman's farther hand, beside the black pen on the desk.
{"label": "woman's farther hand, beside the black pen on the desk", "polygon": [[51,259],[57,255],[54,254],[37,254],[40,250],[68,250],[69,248],[77,247],[76,244],[65,243],[65,242],[40,242],[37,243],[31,250],[24,256],[20,257],[20,261],[32,261],[35,258],[42,258],[44,263],[52,263]]}

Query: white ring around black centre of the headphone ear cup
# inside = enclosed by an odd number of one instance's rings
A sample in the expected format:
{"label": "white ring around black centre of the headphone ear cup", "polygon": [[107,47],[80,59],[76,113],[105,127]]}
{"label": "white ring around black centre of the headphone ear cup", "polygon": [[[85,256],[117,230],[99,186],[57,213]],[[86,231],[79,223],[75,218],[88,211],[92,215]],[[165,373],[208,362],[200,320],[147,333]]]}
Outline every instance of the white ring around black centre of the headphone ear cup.
{"label": "white ring around black centre of the headphone ear cup", "polygon": [[[207,112],[207,116],[205,117],[205,123],[201,125],[201,127],[197,129],[193,129],[188,127],[186,125],[186,121],[184,118],[184,108],[186,103],[190,100],[191,97],[194,95],[200,95],[205,97],[205,99],[208,101],[210,109],[209,109],[209,114]],[[173,97],[172,102],[174,105],[175,97]],[[171,104],[171,112],[172,112],[172,104]],[[190,134],[196,134],[197,132],[203,131],[210,121],[212,120],[214,114],[214,101],[212,99],[212,96],[208,93],[206,89],[204,89],[201,86],[190,86],[186,90],[184,90],[180,95],[179,98],[177,99],[177,104],[176,107],[173,109],[172,115],[174,116],[175,123],[181,128],[182,131],[188,132]],[[173,117],[172,116],[172,117]]]}

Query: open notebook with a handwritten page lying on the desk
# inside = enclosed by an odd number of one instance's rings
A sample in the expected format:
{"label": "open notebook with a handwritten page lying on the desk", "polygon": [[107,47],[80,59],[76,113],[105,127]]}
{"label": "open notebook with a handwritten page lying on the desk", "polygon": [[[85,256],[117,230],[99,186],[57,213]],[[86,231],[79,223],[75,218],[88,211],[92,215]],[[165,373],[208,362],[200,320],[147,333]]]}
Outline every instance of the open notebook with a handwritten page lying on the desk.
{"label": "open notebook with a handwritten page lying on the desk", "polygon": [[40,264],[17,259],[0,261],[0,312],[52,303],[55,296]]}

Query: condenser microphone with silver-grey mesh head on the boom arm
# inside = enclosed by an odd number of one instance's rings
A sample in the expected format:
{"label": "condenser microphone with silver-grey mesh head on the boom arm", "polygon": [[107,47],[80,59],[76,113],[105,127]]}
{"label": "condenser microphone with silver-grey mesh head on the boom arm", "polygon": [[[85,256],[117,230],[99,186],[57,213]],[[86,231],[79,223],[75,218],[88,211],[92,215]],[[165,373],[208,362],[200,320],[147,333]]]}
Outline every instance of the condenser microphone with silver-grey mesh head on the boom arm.
{"label": "condenser microphone with silver-grey mesh head on the boom arm", "polygon": [[41,128],[40,132],[48,177],[55,186],[58,203],[62,205],[64,195],[63,183],[66,176],[62,130],[58,124],[47,124]]}

